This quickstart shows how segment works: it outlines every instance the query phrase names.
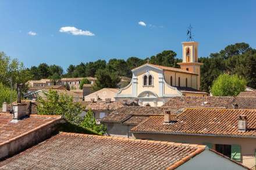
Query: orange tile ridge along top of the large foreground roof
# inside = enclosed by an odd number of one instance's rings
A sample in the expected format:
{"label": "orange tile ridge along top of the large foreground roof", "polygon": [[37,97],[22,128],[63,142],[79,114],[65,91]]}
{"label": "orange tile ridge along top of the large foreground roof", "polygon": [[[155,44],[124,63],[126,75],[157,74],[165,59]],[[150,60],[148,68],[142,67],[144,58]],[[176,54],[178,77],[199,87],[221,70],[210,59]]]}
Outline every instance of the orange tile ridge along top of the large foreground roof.
{"label": "orange tile ridge along top of the large foreground roof", "polygon": [[187,146],[187,147],[195,147],[198,149],[205,150],[206,146],[201,144],[189,144],[189,143],[177,143],[177,142],[167,142],[167,141],[160,141],[160,140],[144,140],[144,139],[131,139],[125,137],[116,137],[116,136],[99,136],[99,135],[90,135],[85,133],[69,133],[69,132],[59,132],[59,135],[69,135],[69,136],[92,136],[96,138],[108,138],[108,139],[118,139],[124,141],[133,141],[139,143],[160,143],[160,144],[168,144],[171,146]]}

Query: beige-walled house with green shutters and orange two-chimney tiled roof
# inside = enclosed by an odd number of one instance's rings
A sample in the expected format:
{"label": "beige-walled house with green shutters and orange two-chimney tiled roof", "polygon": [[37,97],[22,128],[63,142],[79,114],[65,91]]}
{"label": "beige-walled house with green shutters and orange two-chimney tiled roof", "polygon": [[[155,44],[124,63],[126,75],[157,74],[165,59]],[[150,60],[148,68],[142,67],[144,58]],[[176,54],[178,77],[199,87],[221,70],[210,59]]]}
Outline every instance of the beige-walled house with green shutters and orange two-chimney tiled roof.
{"label": "beige-walled house with green shutters and orange two-chimney tiled roof", "polygon": [[256,110],[186,108],[151,116],[130,130],[136,139],[205,144],[255,169]]}

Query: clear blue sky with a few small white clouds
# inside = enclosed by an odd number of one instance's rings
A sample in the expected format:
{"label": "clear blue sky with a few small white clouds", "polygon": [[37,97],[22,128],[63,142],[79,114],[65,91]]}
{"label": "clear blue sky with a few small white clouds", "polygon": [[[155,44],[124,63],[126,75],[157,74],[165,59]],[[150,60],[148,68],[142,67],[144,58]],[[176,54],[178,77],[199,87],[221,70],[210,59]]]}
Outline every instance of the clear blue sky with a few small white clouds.
{"label": "clear blue sky with a few small white clouds", "polygon": [[200,56],[236,42],[256,48],[255,6],[256,1],[1,0],[0,51],[26,67],[44,62],[65,70],[162,50],[181,57],[190,23]]}

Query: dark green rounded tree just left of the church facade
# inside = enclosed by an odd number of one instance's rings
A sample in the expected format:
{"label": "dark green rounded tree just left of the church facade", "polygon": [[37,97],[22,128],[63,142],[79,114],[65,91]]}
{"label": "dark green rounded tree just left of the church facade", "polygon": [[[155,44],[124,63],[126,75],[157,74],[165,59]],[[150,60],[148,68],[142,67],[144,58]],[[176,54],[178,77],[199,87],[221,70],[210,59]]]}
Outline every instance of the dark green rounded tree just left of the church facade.
{"label": "dark green rounded tree just left of the church facade", "polygon": [[120,82],[120,77],[117,73],[111,72],[108,69],[98,70],[95,74],[96,81],[93,85],[93,90],[98,91],[102,88],[117,88]]}

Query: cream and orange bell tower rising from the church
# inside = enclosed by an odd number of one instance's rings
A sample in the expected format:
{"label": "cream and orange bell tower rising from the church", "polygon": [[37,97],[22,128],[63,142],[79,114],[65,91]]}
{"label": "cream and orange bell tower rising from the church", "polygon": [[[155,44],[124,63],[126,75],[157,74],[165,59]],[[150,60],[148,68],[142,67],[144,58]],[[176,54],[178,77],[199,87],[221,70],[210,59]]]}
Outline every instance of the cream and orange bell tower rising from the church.
{"label": "cream and orange bell tower rising from the church", "polygon": [[200,89],[200,66],[202,63],[198,63],[198,42],[189,41],[182,42],[183,57],[182,63],[177,63],[180,68],[197,74],[197,89]]}

